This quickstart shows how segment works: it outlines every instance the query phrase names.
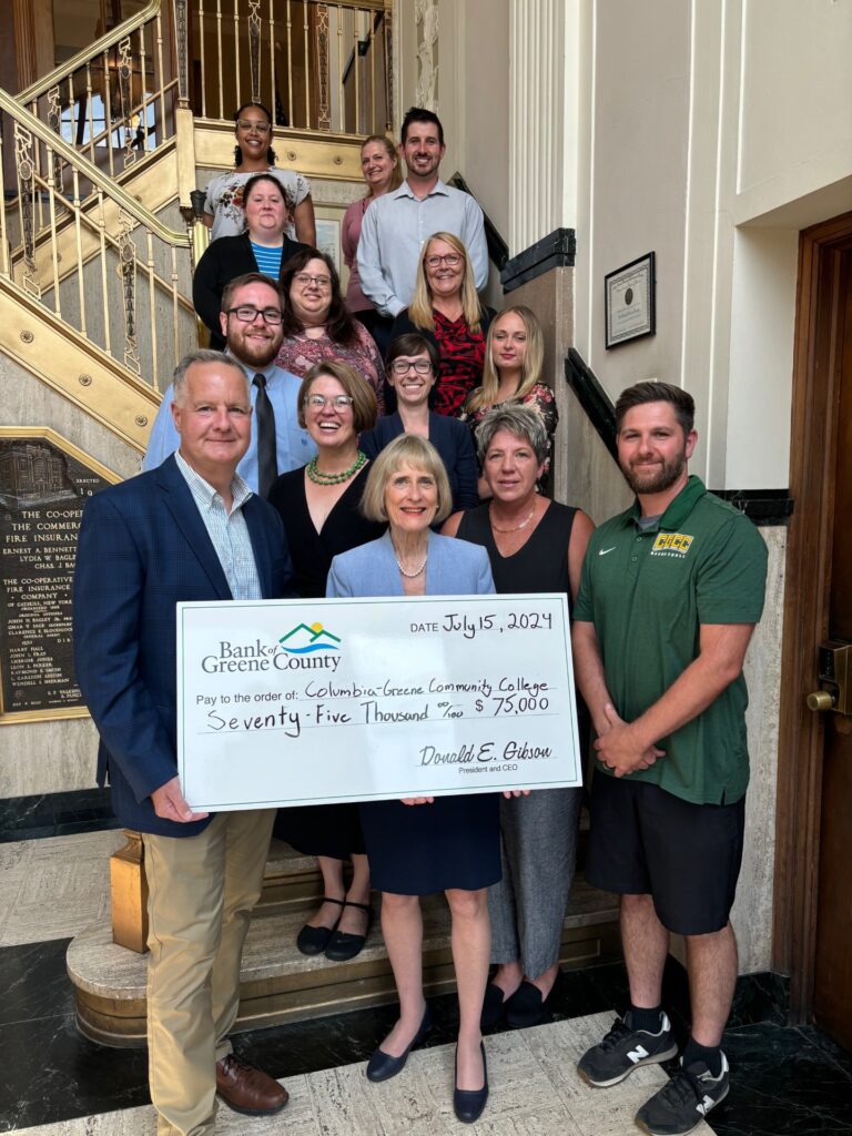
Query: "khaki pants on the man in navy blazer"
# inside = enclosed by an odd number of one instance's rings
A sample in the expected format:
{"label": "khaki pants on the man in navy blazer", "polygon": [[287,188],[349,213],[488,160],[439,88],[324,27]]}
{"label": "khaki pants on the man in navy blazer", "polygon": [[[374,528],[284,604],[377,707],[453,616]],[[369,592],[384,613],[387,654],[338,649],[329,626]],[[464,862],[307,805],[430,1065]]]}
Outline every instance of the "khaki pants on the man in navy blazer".
{"label": "khaki pants on the man in navy blazer", "polygon": [[220,812],[195,836],[143,834],[148,877],[148,1070],[158,1136],[212,1133],[215,1064],[240,1001],[274,809]]}

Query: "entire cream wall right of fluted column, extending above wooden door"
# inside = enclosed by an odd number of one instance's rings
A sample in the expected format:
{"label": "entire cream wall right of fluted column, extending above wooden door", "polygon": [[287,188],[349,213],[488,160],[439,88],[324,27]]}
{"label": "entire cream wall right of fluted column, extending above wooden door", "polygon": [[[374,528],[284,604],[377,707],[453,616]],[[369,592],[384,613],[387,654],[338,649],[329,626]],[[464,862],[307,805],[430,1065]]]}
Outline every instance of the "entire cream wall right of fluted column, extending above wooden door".
{"label": "entire cream wall right of fluted column, extending above wooden door", "polygon": [[[585,0],[576,341],[611,396],[696,400],[713,487],[787,485],[796,245],[852,207],[850,0]],[[657,335],[603,349],[603,277],[657,252]]]}

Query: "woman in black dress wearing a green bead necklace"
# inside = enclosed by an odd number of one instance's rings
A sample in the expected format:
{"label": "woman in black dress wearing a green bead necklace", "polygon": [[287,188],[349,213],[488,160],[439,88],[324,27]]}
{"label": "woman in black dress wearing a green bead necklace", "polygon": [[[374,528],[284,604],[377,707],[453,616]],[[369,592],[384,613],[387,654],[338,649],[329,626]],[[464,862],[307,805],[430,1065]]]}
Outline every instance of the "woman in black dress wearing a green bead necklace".
{"label": "woman in black dress wearing a green bead necklace", "polygon": [[[328,360],[312,367],[299,391],[299,425],[317,445],[317,456],[301,469],[283,474],[269,503],[281,513],[304,599],[325,595],[332,558],[375,540],[384,524],[359,511],[368,460],[358,435],[376,420],[370,384],[348,364]],[[282,809],[275,835],[306,855],[316,855],[323,872],[323,903],[302,927],[296,946],[303,954],[336,961],[352,959],[369,929],[369,864],[357,804],[303,805]],[[343,861],[352,861],[346,891]]]}

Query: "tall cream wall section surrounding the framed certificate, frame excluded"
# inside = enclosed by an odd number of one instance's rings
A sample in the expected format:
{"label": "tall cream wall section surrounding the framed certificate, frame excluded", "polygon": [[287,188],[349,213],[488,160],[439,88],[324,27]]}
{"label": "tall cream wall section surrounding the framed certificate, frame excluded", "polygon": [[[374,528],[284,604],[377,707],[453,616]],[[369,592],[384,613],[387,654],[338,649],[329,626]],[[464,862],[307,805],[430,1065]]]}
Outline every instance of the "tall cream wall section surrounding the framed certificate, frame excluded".
{"label": "tall cream wall section surrounding the framed certificate, frame excluded", "polygon": [[[688,7],[586,3],[575,339],[610,395],[680,375],[688,141]],[[657,335],[604,349],[603,278],[657,254]]]}

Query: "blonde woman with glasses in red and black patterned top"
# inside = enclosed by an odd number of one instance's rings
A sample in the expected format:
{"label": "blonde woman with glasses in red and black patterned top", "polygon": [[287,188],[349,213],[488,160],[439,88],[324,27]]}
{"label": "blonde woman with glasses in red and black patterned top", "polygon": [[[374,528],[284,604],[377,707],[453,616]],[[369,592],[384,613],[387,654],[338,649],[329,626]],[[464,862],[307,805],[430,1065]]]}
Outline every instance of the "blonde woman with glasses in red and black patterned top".
{"label": "blonde woman with glasses in red and black patterned top", "polygon": [[411,332],[434,342],[441,359],[434,390],[437,414],[458,417],[482,382],[493,315],[479,303],[463,243],[454,233],[433,233],[420,253],[411,303],[393,321],[391,342]]}

